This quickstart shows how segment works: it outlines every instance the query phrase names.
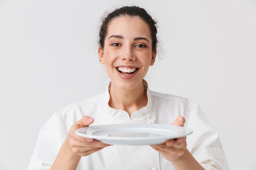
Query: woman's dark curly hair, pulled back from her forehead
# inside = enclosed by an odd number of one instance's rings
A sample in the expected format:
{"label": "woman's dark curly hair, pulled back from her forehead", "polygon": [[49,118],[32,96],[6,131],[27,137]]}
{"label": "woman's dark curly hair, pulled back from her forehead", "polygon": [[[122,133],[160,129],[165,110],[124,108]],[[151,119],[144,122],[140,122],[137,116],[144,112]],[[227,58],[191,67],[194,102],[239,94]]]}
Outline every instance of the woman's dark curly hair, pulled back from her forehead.
{"label": "woman's dark curly hair, pulled back from her forehead", "polygon": [[152,39],[152,50],[155,51],[157,48],[157,22],[152,19],[152,17],[147,13],[147,11],[143,8],[132,6],[132,7],[121,7],[116,9],[112,13],[109,13],[106,17],[104,17],[101,21],[101,27],[99,31],[99,45],[104,48],[104,41],[107,34],[108,24],[114,18],[119,16],[138,16],[144,22],[146,22],[149,26],[151,32],[151,39]]}

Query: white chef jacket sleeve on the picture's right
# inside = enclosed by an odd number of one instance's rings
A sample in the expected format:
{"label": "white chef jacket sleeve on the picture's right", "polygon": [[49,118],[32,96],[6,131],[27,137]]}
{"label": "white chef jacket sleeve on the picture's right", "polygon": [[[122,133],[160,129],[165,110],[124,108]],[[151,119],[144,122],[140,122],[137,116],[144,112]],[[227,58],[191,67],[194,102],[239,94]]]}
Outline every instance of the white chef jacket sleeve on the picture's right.
{"label": "white chef jacket sleeve on the picture's right", "polygon": [[187,127],[193,129],[193,133],[187,137],[187,148],[206,170],[229,170],[218,133],[198,104],[189,110]]}

